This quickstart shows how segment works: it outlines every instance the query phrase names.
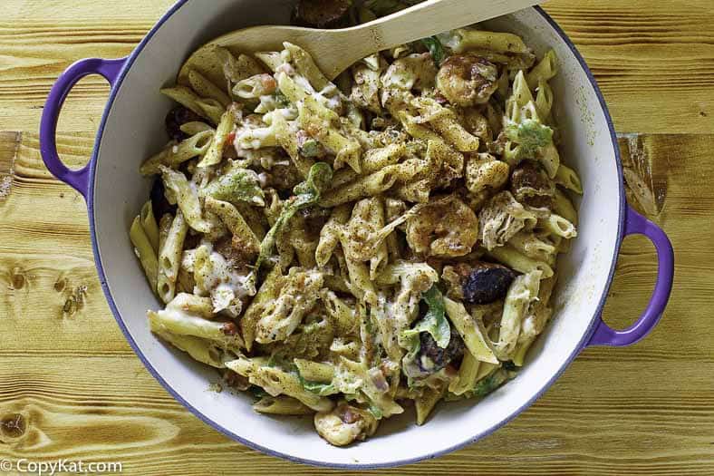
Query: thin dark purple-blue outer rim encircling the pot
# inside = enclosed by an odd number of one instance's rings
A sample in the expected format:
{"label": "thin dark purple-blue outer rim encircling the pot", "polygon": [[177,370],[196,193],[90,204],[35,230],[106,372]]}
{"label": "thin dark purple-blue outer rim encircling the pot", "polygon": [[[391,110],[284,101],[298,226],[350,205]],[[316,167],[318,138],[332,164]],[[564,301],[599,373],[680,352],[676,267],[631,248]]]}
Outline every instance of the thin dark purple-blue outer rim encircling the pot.
{"label": "thin dark purple-blue outer rim encircling the pot", "polygon": [[123,84],[124,78],[126,77],[126,74],[129,72],[132,64],[136,61],[137,57],[140,55],[140,53],[143,51],[143,49],[146,47],[147,44],[150,43],[151,39],[153,38],[154,34],[156,34],[161,26],[165,24],[171,16],[173,16],[178,10],[185,4],[188,3],[188,0],[178,0],[176,4],[172,5],[171,8],[169,8],[169,11],[162,15],[157,24],[155,24],[150,32],[146,34],[146,36],[141,40],[140,44],[130,53],[130,55],[127,57],[126,62],[124,63],[123,67],[121,68],[121,73],[117,77],[116,83],[114,86],[111,88],[111,92],[109,95],[109,100],[107,101],[106,106],[104,107],[104,111],[102,112],[101,115],[101,122],[99,129],[97,131],[96,139],[94,141],[94,148],[92,151],[92,159],[90,160],[90,170],[89,170],[89,189],[88,189],[88,194],[87,194],[87,209],[88,209],[88,214],[89,214],[89,224],[90,224],[90,233],[91,233],[91,238],[92,238],[92,253],[94,256],[94,262],[96,264],[97,272],[99,274],[100,278],[100,283],[101,283],[101,289],[104,292],[104,296],[106,296],[107,302],[110,306],[111,313],[114,316],[115,320],[117,321],[117,324],[121,328],[121,332],[124,334],[125,338],[129,342],[129,345],[133,349],[134,353],[140,358],[140,361],[146,369],[149,371],[149,373],[157,380],[159,381],[159,384],[161,384],[169,394],[178,401],[178,403],[181,403],[184,407],[188,409],[189,412],[193,413],[200,419],[202,422],[207,423],[209,426],[217,430],[218,432],[222,432],[232,440],[239,442],[241,444],[246,445],[247,447],[257,450],[259,452],[264,452],[265,454],[275,456],[278,458],[282,458],[288,461],[294,461],[294,462],[299,462],[299,463],[304,463],[304,464],[309,464],[312,466],[319,466],[319,467],[324,467],[324,468],[332,468],[332,469],[343,469],[343,470],[374,470],[374,469],[381,469],[381,468],[391,468],[391,467],[396,467],[396,466],[402,466],[406,464],[411,464],[415,463],[418,461],[423,461],[423,460],[429,460],[433,458],[437,458],[439,456],[442,456],[444,454],[447,454],[449,452],[455,452],[461,448],[464,448],[465,446],[478,442],[478,440],[481,440],[482,438],[486,437],[487,435],[491,434],[492,432],[497,431],[499,428],[502,426],[506,425],[510,421],[512,421],[514,418],[516,418],[517,415],[520,413],[524,412],[526,408],[531,406],[535,401],[540,398],[540,396],[545,393],[545,391],[550,388],[552,384],[555,383],[555,381],[560,377],[561,374],[563,374],[564,370],[573,362],[574,358],[580,354],[580,352],[584,349],[584,347],[587,345],[588,341],[590,340],[591,336],[593,335],[595,328],[597,324],[600,322],[598,317],[602,314],[603,312],[603,307],[605,305],[605,301],[608,296],[608,292],[610,290],[610,287],[612,286],[613,283],[613,276],[615,272],[615,265],[617,263],[617,257],[620,253],[620,248],[622,245],[622,238],[623,238],[623,230],[624,230],[624,221],[625,221],[625,193],[624,193],[624,179],[622,175],[622,158],[620,155],[620,148],[618,146],[618,141],[617,141],[617,135],[614,130],[614,124],[613,124],[613,119],[610,115],[610,112],[607,108],[607,105],[604,101],[603,93],[600,91],[600,88],[597,85],[597,82],[595,81],[595,78],[593,76],[593,73],[590,71],[590,68],[588,68],[587,64],[585,63],[585,60],[583,56],[578,52],[577,48],[575,48],[575,45],[573,44],[572,40],[568,37],[567,34],[564,33],[563,29],[555,23],[555,20],[548,14],[545,13],[543,8],[541,8],[538,5],[533,6],[532,8],[535,9],[535,11],[541,15],[545,21],[550,24],[553,29],[555,30],[555,33],[558,34],[558,36],[564,41],[564,44],[568,46],[568,48],[571,50],[571,52],[574,54],[575,59],[580,63],[581,68],[583,69],[585,75],[588,78],[588,81],[590,82],[591,86],[593,87],[593,91],[595,92],[595,95],[598,98],[598,101],[600,102],[600,108],[603,112],[605,121],[607,121],[608,129],[610,132],[611,136],[611,141],[613,144],[613,155],[614,159],[616,162],[616,170],[617,170],[617,180],[618,180],[618,193],[619,193],[619,200],[618,200],[618,219],[617,219],[617,238],[615,240],[615,247],[614,247],[614,252],[613,252],[613,258],[612,262],[610,265],[610,270],[608,272],[608,277],[607,281],[605,284],[605,287],[603,289],[603,295],[600,296],[600,300],[598,303],[598,306],[593,310],[593,316],[591,317],[590,324],[588,325],[587,330],[585,331],[584,335],[581,337],[580,342],[576,345],[575,350],[571,355],[569,355],[565,361],[564,364],[553,374],[553,376],[543,384],[537,392],[531,396],[526,403],[523,403],[514,413],[511,413],[508,415],[507,418],[503,419],[502,421],[491,425],[487,429],[478,432],[477,434],[473,435],[472,437],[468,438],[467,440],[463,442],[458,442],[457,444],[454,444],[450,446],[449,448],[439,450],[438,452],[431,452],[426,455],[420,455],[420,456],[415,456],[413,458],[407,458],[407,459],[402,459],[398,461],[388,461],[388,462],[380,462],[380,463],[354,463],[354,464],[344,464],[344,463],[334,463],[334,462],[329,462],[329,461],[320,461],[320,460],[314,460],[310,458],[300,458],[296,457],[290,454],[287,454],[285,452],[280,452],[275,449],[271,449],[268,447],[265,447],[261,444],[257,444],[256,442],[251,442],[249,440],[246,440],[246,438],[236,434],[235,432],[229,431],[227,428],[225,428],[221,423],[218,423],[215,420],[212,420],[208,418],[204,413],[201,413],[200,410],[198,410],[196,407],[188,403],[184,398],[174,390],[174,388],[169,384],[169,382],[164,379],[164,377],[159,374],[159,372],[154,368],[154,366],[150,363],[150,361],[146,358],[145,355],[143,355],[142,351],[140,350],[139,346],[136,344],[136,341],[134,340],[133,336],[130,334],[129,329],[127,328],[126,325],[124,325],[123,319],[121,317],[121,314],[119,312],[119,309],[117,308],[116,304],[114,303],[114,298],[111,295],[111,290],[107,284],[106,281],[106,276],[104,274],[104,268],[102,265],[101,261],[101,255],[99,251],[99,247],[97,244],[97,237],[96,237],[96,226],[95,226],[95,215],[94,215],[94,186],[95,186],[95,172],[96,172],[96,159],[99,155],[99,148],[101,145],[101,140],[103,137],[104,133],[104,127],[106,126],[107,118],[109,116],[109,112],[111,111],[111,107],[114,103],[114,100],[116,99],[116,96],[121,89],[121,85]]}

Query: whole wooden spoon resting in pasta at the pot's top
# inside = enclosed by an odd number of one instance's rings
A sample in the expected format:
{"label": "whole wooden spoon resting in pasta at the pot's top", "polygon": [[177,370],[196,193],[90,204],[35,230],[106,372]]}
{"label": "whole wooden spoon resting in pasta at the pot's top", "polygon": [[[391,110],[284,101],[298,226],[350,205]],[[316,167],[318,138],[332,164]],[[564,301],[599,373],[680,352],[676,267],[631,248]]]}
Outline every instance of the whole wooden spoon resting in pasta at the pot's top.
{"label": "whole wooden spoon resting in pasta at the pot's top", "polygon": [[234,53],[256,53],[280,51],[283,42],[297,44],[311,53],[325,76],[332,80],[352,63],[371,53],[516,12],[543,1],[427,0],[370,23],[337,30],[284,25],[253,26],[224,34],[201,46],[181,67],[178,83],[188,84],[191,69],[204,73],[217,84],[223,83],[220,70],[208,66],[215,63],[216,46],[223,46]]}

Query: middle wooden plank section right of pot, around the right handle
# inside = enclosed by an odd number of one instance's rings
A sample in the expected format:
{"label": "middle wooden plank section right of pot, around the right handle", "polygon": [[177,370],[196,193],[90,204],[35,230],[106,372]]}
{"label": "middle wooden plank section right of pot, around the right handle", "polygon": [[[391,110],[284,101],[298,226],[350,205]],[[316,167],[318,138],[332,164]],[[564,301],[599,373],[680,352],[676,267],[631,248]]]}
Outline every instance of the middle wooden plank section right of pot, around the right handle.
{"label": "middle wooden plank section right of pot, around the right handle", "polygon": [[[643,195],[657,197],[657,214],[650,218],[671,238],[676,266],[675,287],[661,324],[642,343],[619,349],[618,359],[653,361],[678,355],[674,358],[711,362],[714,358],[709,336],[698,335],[709,332],[703,328],[693,331],[699,322],[708,320],[707,309],[714,295],[714,268],[710,265],[714,262],[710,246],[714,240],[714,190],[707,183],[714,173],[714,163],[709,160],[712,139],[706,135],[637,135],[621,140],[625,168],[632,170],[629,176],[647,184],[649,189]],[[631,189],[630,202],[637,205],[636,198],[641,195]],[[625,239],[604,310],[606,322],[619,328],[632,323],[649,301],[656,266],[654,248],[646,238]],[[632,311],[624,313],[624,309]],[[684,350],[687,345],[682,343],[690,338],[700,341],[703,353],[692,355],[691,349]]]}

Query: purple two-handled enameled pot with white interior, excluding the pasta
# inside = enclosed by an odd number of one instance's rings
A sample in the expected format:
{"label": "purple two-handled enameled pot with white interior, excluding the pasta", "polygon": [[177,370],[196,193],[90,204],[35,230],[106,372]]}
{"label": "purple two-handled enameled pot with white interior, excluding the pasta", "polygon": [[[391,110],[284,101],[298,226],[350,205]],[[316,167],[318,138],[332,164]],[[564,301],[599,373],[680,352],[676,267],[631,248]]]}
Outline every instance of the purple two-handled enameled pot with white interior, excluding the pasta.
{"label": "purple two-handled enameled pot with white interior, excluding the pasta", "polygon": [[[520,34],[538,54],[555,49],[561,72],[552,87],[562,156],[580,173],[584,196],[576,203],[579,236],[558,267],[555,316],[517,378],[478,404],[441,405],[423,426],[413,423],[410,412],[392,418],[370,440],[348,448],[323,442],[310,418],[269,418],[251,409],[248,395],[207,392],[208,384],[217,380],[215,370],[162,345],[149,331],[146,310],[160,305],[146,285],[128,237],[131,219],[150,189],[138,169],[167,141],[163,120],[171,104],[159,88],[174,81],[188,54],[240,27],[285,24],[291,7],[286,0],[181,0],[129,57],[72,64],[54,84],[43,111],[44,163],[87,201],[94,258],[111,311],[141,361],[178,402],[237,442],[292,461],[333,468],[396,466],[437,457],[494,432],[544,393],[585,347],[631,345],[651,331],[670,296],[670,241],[661,228],[626,205],[613,121],[593,75],[557,24],[540,8],[531,8],[487,26]],[[72,86],[88,74],[106,78],[111,94],[92,159],[82,170],[69,170],[57,156],[57,117]],[[635,233],[650,238],[657,249],[657,284],[642,316],[617,331],[604,324],[601,313],[622,238]]]}

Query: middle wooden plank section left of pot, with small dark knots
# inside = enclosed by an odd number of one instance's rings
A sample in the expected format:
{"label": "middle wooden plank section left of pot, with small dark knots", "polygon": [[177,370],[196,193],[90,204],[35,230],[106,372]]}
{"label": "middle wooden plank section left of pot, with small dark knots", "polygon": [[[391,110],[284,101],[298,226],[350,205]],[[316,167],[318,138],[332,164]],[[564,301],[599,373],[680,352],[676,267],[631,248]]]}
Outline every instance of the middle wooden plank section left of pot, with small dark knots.
{"label": "middle wooden plank section left of pot, with small dark knots", "polygon": [[[57,144],[76,169],[92,142],[73,133]],[[0,133],[5,166],[12,182],[0,199],[0,334],[14,338],[3,339],[0,355],[131,355],[101,292],[84,199],[44,168],[34,132]]]}

